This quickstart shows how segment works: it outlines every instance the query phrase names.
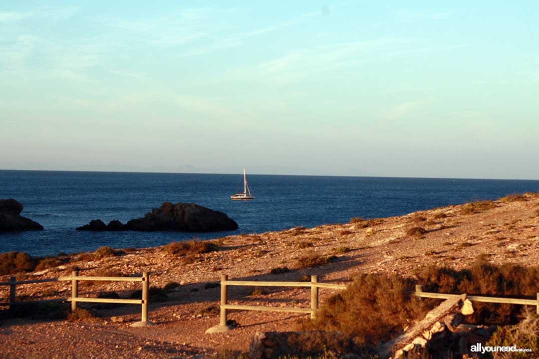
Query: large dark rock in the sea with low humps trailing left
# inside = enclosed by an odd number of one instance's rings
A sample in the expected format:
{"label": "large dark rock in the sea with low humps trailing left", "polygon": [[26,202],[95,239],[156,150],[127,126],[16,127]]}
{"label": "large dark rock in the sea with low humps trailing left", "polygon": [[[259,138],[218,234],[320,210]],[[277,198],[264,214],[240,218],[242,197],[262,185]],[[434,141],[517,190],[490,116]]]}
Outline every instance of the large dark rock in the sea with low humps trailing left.
{"label": "large dark rock in the sea with low humps trailing left", "polygon": [[110,221],[107,226],[101,220],[93,220],[78,230],[90,231],[184,231],[213,232],[238,229],[234,222],[223,212],[198,206],[195,203],[164,202],[160,208],[154,208],[142,218],[122,224]]}

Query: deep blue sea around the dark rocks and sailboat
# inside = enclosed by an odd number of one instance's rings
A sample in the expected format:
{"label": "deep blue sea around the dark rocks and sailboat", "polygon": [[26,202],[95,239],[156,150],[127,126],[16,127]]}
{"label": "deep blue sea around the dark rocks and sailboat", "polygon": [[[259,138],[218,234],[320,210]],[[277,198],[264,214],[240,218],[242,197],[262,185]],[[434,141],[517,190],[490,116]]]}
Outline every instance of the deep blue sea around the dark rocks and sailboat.
{"label": "deep blue sea around the dark rocks and sailboat", "polygon": [[[196,238],[263,233],[296,226],[348,222],[351,217],[386,217],[416,210],[538,192],[539,181],[249,175],[255,199],[231,201],[243,191],[242,174],[119,173],[0,170],[0,199],[24,205],[22,215],[43,231],[0,234],[0,252],[31,255],[114,248],[154,247]],[[162,202],[194,202],[238,222],[217,233],[77,231],[93,219],[126,221]]]}

